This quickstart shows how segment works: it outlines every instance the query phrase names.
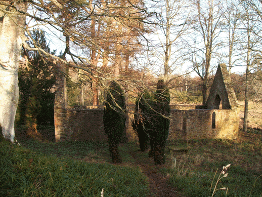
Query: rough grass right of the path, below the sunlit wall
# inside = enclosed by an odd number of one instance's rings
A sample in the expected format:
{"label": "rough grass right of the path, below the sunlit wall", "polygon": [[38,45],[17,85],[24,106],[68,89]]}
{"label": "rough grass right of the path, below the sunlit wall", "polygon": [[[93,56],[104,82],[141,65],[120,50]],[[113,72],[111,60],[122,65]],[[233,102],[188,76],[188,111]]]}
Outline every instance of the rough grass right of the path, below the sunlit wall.
{"label": "rough grass right of the path, below the sunlit wall", "polygon": [[216,190],[213,196],[262,196],[262,135],[241,135],[240,141],[203,139],[169,142],[169,146],[188,146],[190,151],[187,154],[177,153],[176,168],[166,168],[163,173],[184,196],[207,197],[212,196],[214,182],[219,179],[219,173],[215,172],[231,164],[228,176],[216,186],[216,189],[226,189]]}

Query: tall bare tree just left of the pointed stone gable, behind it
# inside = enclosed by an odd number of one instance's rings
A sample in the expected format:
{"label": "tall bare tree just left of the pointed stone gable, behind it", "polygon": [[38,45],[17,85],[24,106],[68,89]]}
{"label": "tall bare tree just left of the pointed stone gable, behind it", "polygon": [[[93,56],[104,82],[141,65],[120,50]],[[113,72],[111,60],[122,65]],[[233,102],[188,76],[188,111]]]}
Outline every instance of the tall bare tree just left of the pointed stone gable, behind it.
{"label": "tall bare tree just left of the pointed stone gable, behind it", "polygon": [[222,45],[219,36],[222,32],[222,2],[216,0],[193,1],[195,15],[192,18],[192,31],[189,50],[194,71],[203,82],[202,97],[205,105],[208,95],[211,60]]}

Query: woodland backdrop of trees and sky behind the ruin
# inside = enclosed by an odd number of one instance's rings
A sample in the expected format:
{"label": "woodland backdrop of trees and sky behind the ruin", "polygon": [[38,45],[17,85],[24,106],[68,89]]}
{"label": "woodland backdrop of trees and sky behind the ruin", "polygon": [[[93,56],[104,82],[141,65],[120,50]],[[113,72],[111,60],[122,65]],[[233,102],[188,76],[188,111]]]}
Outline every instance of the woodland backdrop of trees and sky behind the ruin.
{"label": "woodland backdrop of trees and sky behind the ruin", "polygon": [[103,105],[111,80],[134,104],[141,91],[153,92],[159,78],[170,89],[171,103],[205,104],[222,62],[237,99],[244,101],[244,129],[248,102],[260,106],[259,1],[31,1],[27,6],[20,124],[26,117],[29,125],[52,122],[43,114],[52,113],[58,62],[66,67],[70,106]]}

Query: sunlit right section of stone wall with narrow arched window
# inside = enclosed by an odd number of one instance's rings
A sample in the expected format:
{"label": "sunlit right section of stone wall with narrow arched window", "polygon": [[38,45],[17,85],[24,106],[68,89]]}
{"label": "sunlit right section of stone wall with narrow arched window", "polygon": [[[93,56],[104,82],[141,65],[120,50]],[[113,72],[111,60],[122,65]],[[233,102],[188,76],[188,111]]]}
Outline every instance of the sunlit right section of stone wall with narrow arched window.
{"label": "sunlit right section of stone wall with narrow arched window", "polygon": [[238,127],[238,108],[171,110],[168,139],[235,139]]}

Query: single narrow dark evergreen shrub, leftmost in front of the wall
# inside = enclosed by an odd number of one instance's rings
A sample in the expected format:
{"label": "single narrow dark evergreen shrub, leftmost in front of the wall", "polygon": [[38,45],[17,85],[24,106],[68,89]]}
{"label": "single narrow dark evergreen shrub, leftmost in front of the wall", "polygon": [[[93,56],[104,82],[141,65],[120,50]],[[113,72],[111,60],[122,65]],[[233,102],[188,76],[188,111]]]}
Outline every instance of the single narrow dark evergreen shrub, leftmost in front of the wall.
{"label": "single narrow dark evergreen shrub, leftmost in front of the wall", "polygon": [[125,108],[123,90],[115,81],[112,81],[107,93],[103,122],[113,163],[122,162],[118,145],[125,128]]}

